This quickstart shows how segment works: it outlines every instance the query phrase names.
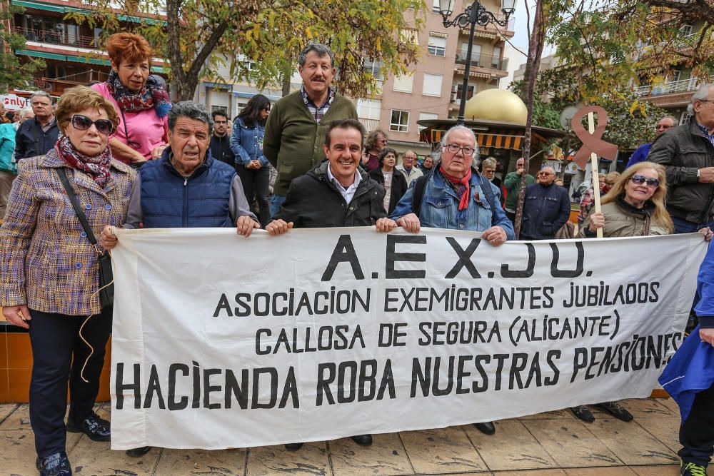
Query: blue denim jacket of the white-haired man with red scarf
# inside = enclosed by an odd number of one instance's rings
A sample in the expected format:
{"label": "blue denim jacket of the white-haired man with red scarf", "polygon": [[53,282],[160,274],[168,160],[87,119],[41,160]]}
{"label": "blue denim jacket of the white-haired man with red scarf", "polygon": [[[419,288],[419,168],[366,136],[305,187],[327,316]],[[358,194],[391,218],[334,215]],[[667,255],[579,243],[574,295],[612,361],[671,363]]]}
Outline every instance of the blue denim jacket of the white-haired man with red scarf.
{"label": "blue denim jacket of the white-haired man with red scarf", "polygon": [[[404,196],[401,198],[390,218],[396,220],[412,213],[412,199],[414,196],[413,181]],[[498,188],[493,183],[486,181],[493,191],[496,204],[488,203],[486,193],[481,188],[481,176],[475,169],[471,169],[471,197],[466,210],[458,210],[459,197],[456,191],[444,182],[441,173],[435,172],[426,181],[424,196],[422,198],[419,221],[421,226],[430,228],[448,228],[449,230],[486,231],[491,226],[500,226],[506,231],[509,240],[515,238],[513,224],[506,217],[506,213],[498,202]]]}

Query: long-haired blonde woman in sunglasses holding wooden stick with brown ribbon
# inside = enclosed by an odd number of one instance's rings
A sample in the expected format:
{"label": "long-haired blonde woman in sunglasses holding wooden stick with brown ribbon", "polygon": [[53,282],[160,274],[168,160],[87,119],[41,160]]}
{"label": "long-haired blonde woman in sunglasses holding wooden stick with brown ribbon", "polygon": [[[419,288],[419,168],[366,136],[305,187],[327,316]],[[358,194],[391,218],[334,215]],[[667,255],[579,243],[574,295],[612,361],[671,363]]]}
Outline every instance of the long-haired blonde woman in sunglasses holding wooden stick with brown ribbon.
{"label": "long-haired blonde woman in sunglasses holding wooden stick with brown ribbon", "polygon": [[[636,163],[617,178],[613,187],[603,197],[602,211],[590,211],[578,236],[592,238],[596,236],[598,228],[603,228],[603,238],[673,233],[672,218],[665,208],[666,196],[664,167],[652,162]],[[712,238],[709,228],[704,228],[701,233],[705,240]],[[603,402],[596,406],[625,422],[633,420],[630,412],[619,402]],[[586,405],[572,407],[570,410],[584,422],[595,421]]]}

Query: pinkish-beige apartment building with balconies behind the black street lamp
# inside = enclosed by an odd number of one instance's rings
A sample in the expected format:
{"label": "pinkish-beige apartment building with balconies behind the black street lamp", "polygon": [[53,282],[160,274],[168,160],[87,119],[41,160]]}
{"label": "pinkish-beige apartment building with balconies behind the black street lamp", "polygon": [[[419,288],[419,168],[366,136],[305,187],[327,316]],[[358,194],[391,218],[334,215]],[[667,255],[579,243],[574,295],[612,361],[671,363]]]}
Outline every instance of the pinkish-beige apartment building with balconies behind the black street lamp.
{"label": "pinkish-beige apartment building with balconies behind the black street lamp", "polygon": [[[454,14],[461,13],[468,4],[456,0]],[[483,0],[482,4],[494,13],[501,11],[498,0]],[[411,148],[419,156],[431,152],[431,146],[420,141],[423,127],[417,121],[458,116],[468,49],[468,28],[444,27],[438,0],[427,0],[427,6],[431,10],[422,31],[402,32],[406,41],[422,47],[411,74],[384,77],[381,65],[366,61],[365,67],[383,81],[381,94],[357,100],[358,116],[368,131],[380,128],[388,135],[390,146],[399,152]],[[503,50],[505,38],[513,34],[513,20],[498,29],[493,25],[476,26],[467,100],[483,89],[498,88],[499,81],[508,76],[508,59],[503,57]]]}

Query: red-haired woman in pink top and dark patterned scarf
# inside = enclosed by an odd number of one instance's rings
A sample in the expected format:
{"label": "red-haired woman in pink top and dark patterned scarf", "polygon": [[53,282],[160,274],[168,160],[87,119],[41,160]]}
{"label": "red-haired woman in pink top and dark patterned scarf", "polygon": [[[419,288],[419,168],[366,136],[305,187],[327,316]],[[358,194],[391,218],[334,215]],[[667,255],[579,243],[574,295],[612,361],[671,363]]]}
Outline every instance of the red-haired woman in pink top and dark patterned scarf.
{"label": "red-haired woman in pink top and dark patterned scarf", "polygon": [[107,39],[106,51],[111,61],[109,78],[91,87],[109,99],[119,114],[119,125],[109,139],[114,158],[138,166],[161,157],[169,142],[171,101],[164,81],[149,76],[151,46],[143,36],[117,33]]}

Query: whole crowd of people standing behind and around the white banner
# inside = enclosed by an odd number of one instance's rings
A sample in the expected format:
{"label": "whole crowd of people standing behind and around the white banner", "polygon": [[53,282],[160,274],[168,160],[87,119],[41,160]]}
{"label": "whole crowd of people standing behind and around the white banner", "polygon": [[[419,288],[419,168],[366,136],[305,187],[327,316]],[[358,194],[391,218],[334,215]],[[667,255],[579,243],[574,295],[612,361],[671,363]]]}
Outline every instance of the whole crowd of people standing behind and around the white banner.
{"label": "whole crowd of people standing behind and around the white banner", "polygon": [[[118,243],[116,228],[234,227],[247,237],[258,228],[273,236],[292,228],[418,233],[430,227],[481,232],[482,240],[498,246],[516,238],[523,173],[519,238],[555,238],[568,223],[570,199],[553,168],[540,168],[534,177],[521,158],[501,181],[496,161],[486,158],[479,171],[470,128],[453,126],[421,164],[413,151],[400,162],[386,133],[366,134],[353,103],[331,87],[334,57],[325,45],[301,52],[299,91],[272,109],[257,94],[232,123],[224,111],[171,103],[166,85],[150,74],[151,49],[141,36],[115,34],[106,47],[112,70],[104,83],[68,89],[56,110],[48,94],[34,93],[16,128],[0,125],[0,137],[14,140],[14,160],[0,161],[0,201],[6,202],[0,305],[6,320],[29,329],[30,420],[41,475],[71,475],[66,431],[96,441],[111,437],[109,422],[92,409],[111,333],[111,300],[101,298],[102,262]],[[714,85],[695,93],[690,108],[688,124],[660,121],[646,160],[600,176],[601,211],[592,207],[593,191],[585,193],[580,238],[602,229],[605,238],[700,231],[710,240]],[[714,343],[714,318],[700,317],[703,341]],[[618,402],[598,405],[632,420]],[[708,405],[695,402],[689,418],[697,425],[682,427],[683,474],[700,474],[712,454]],[[573,412],[594,420],[584,405]],[[476,426],[496,431],[493,422]],[[372,442],[371,435],[353,439]]]}

